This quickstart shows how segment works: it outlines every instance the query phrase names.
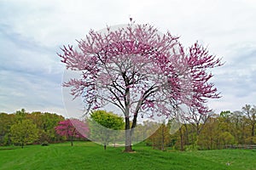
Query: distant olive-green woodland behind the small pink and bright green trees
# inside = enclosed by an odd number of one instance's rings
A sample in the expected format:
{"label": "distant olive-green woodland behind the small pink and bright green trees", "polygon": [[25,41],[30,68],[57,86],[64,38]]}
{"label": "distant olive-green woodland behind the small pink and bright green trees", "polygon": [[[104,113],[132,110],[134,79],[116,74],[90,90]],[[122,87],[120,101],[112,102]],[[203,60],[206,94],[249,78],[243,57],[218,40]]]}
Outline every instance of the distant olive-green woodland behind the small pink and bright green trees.
{"label": "distant olive-green woodland behind the small pink and bright green trees", "polygon": [[[56,133],[55,127],[65,121],[64,116],[55,113],[24,109],[15,113],[0,113],[0,145],[20,144],[15,138],[20,133],[29,132],[23,136],[26,144],[59,143],[69,140],[68,137]],[[192,115],[183,120],[175,133],[172,130],[173,121],[143,122],[137,124],[133,141],[141,141],[148,133],[148,126],[158,124],[158,129],[143,142],[157,150],[172,147],[175,150],[215,150],[239,144],[256,144],[256,106],[245,105],[241,111],[222,111],[219,114]],[[88,134],[90,136],[90,134]],[[74,140],[88,140],[75,138]]]}

